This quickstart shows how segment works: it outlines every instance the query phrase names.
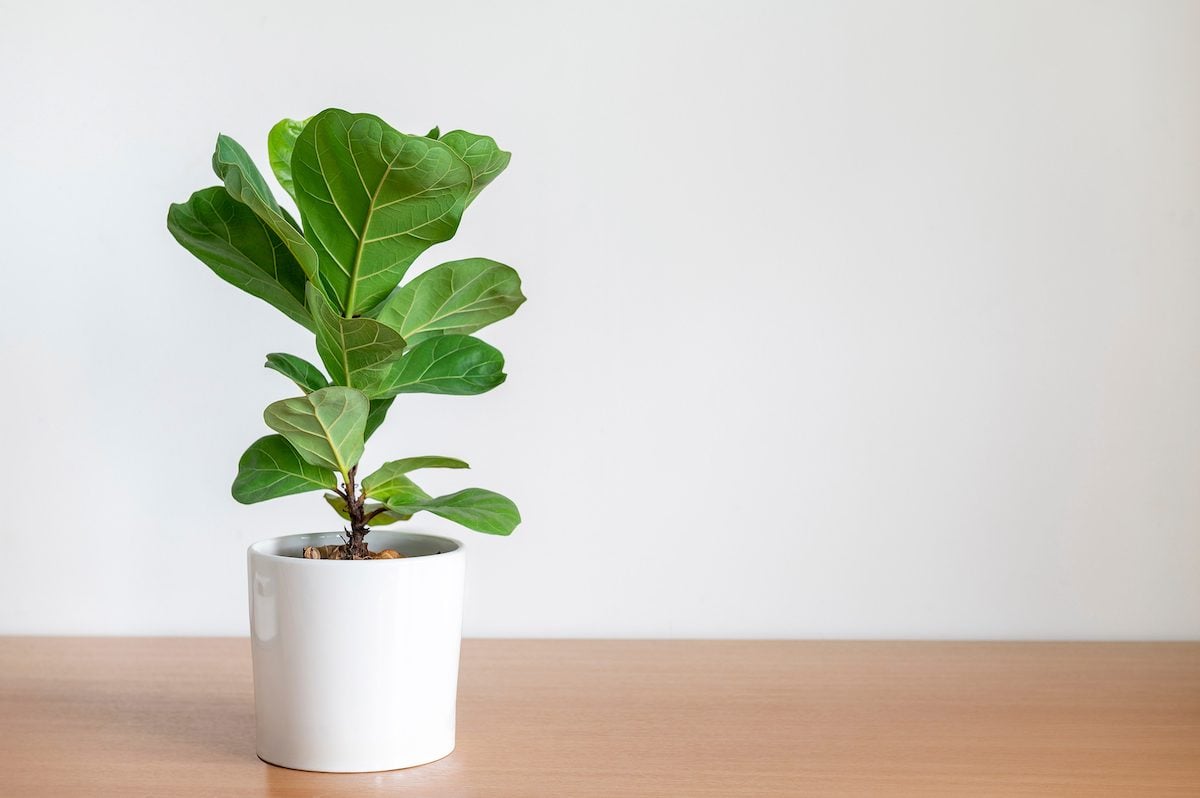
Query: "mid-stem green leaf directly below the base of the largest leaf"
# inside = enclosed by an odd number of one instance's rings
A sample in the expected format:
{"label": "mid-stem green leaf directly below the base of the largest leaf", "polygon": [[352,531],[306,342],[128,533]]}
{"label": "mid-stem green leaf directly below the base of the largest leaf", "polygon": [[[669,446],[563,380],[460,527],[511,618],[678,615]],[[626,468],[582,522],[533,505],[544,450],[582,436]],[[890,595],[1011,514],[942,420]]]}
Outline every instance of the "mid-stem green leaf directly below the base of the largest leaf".
{"label": "mid-stem green leaf directly below the base of the largest leaf", "polygon": [[308,310],[317,323],[317,354],[334,383],[373,398],[388,377],[388,365],[404,353],[404,338],[374,319],[342,318],[325,295],[308,283]]}

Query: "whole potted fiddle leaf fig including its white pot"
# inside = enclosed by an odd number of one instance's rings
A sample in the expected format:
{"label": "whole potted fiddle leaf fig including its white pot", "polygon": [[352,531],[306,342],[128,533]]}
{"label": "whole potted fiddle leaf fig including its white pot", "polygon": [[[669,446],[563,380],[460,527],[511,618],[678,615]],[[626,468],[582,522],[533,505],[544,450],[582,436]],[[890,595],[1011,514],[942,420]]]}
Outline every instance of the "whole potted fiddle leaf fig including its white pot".
{"label": "whole potted fiddle leaf fig including its white pot", "polygon": [[258,754],[305,770],[431,762],[454,750],[463,548],[374,527],[432,512],[508,535],[521,517],[498,493],[434,497],[414,481],[420,469],[467,468],[454,457],[359,466],[400,395],[482,394],[505,379],[504,358],[472,334],[524,301],[512,269],[470,258],[401,281],[510,156],[486,136],[404,134],[336,108],[281,121],[268,151],[300,223],[227,136],[212,156],[222,185],[167,216],[218,277],[308,329],[325,367],[266,355],[299,395],[268,406],[274,434],[250,445],[233,482],[245,504],[324,491],[344,523],[250,547]]}

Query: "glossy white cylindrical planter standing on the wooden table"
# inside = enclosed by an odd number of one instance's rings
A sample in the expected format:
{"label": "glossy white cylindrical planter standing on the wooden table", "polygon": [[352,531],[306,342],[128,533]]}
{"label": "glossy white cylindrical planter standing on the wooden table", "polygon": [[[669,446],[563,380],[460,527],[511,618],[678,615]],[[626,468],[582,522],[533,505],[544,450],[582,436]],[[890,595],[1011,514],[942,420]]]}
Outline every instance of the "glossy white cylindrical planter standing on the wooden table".
{"label": "glossy white cylindrical planter standing on the wooden table", "polygon": [[[300,770],[391,770],[454,750],[466,553],[449,538],[373,530],[371,548],[425,557],[323,560],[250,547],[258,756]],[[440,553],[439,553],[440,552]]]}

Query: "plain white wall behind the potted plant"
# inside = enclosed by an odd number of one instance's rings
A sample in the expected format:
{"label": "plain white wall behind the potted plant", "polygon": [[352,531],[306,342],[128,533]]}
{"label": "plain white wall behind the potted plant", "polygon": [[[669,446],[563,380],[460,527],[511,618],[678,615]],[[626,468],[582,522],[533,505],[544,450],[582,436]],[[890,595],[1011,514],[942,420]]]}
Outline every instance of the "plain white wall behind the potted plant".
{"label": "plain white wall behind the potted plant", "polygon": [[[1200,636],[1200,5],[5,2],[0,632],[245,634],[307,334],[164,226],[338,106],[514,152],[468,635]],[[281,192],[282,193],[282,192]],[[426,528],[451,529],[433,520]]]}

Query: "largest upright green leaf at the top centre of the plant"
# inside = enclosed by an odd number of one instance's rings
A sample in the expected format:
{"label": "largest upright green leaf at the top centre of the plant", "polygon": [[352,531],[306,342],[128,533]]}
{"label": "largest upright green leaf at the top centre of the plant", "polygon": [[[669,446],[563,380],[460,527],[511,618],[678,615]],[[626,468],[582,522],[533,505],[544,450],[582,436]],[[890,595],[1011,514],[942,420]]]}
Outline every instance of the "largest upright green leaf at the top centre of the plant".
{"label": "largest upright green leaf at the top centre of the plant", "polygon": [[296,204],[338,312],[385,298],[430,246],[454,236],[475,179],[446,144],[330,108],[292,154]]}

